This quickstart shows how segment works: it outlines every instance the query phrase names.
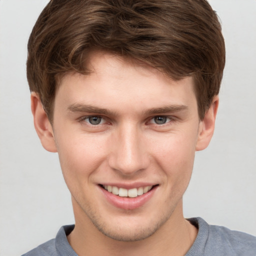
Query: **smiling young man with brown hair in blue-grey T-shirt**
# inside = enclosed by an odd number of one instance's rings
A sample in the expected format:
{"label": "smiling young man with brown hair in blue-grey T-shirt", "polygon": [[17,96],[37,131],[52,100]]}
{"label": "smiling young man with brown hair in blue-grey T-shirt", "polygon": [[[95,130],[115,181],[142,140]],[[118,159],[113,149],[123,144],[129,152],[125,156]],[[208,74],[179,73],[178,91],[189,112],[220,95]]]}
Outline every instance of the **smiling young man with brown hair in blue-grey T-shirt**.
{"label": "smiling young man with brown hair in blue-grey T-shirt", "polygon": [[51,0],[29,38],[36,132],[75,225],[25,255],[255,255],[253,236],[184,219],[224,67],[204,0]]}

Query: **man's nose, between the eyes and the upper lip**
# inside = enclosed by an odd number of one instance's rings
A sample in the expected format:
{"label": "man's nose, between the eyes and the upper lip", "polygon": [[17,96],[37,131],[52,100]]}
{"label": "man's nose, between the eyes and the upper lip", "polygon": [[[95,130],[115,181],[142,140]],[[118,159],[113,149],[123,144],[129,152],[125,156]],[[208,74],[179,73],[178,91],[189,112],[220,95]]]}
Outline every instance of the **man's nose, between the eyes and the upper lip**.
{"label": "man's nose, between the eyes and the upper lip", "polygon": [[[124,127],[125,126],[125,127]],[[123,125],[110,143],[109,166],[122,175],[134,175],[149,164],[142,131],[135,125]]]}

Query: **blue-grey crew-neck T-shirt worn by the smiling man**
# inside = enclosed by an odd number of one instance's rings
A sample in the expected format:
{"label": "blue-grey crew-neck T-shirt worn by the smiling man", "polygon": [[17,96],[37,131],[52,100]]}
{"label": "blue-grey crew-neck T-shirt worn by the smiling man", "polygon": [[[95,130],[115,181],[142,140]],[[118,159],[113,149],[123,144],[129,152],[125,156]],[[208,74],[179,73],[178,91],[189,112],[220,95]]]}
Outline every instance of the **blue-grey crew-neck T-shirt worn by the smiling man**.
{"label": "blue-grey crew-neck T-shirt worn by the smiling man", "polygon": [[[185,256],[256,256],[256,237],[223,226],[208,225],[202,218],[188,219],[198,234]],[[51,239],[22,256],[77,256],[67,241],[74,225],[62,226]]]}

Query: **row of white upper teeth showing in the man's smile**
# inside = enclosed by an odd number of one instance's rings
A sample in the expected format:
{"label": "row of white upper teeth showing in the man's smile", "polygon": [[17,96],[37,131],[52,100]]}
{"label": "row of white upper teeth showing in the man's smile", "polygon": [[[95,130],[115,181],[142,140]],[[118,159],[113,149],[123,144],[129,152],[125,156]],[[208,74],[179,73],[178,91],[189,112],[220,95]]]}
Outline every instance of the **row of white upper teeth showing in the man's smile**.
{"label": "row of white upper teeth showing in the man's smile", "polygon": [[102,187],[108,192],[121,196],[121,197],[137,197],[148,192],[153,186],[140,186],[134,187],[131,189],[126,189],[123,187],[111,186],[111,185],[102,185]]}

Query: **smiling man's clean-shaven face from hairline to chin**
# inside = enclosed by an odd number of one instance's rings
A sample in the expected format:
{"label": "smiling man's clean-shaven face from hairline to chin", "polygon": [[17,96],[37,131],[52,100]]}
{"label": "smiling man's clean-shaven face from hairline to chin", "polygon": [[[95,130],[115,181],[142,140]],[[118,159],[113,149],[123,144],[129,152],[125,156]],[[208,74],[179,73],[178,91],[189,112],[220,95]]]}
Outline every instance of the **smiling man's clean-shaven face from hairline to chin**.
{"label": "smiling man's clean-shaven face from hairline to chin", "polygon": [[54,102],[76,221],[117,240],[143,239],[168,223],[190,179],[201,126],[193,81],[99,52],[90,69],[66,74]]}

